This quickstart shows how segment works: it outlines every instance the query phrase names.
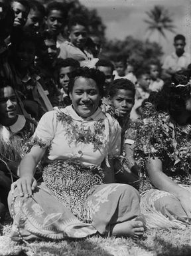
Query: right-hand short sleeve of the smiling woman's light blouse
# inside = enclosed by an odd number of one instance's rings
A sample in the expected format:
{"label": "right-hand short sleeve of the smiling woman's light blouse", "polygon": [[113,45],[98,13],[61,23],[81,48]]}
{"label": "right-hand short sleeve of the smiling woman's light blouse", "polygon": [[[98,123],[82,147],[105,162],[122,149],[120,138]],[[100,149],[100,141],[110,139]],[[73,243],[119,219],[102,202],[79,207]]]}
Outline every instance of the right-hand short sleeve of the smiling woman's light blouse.
{"label": "right-hand short sleeve of the smiling woman's light blouse", "polygon": [[[111,117],[111,116],[110,116]],[[119,156],[121,152],[121,127],[115,118],[109,120],[110,135],[109,135],[109,157]]]}

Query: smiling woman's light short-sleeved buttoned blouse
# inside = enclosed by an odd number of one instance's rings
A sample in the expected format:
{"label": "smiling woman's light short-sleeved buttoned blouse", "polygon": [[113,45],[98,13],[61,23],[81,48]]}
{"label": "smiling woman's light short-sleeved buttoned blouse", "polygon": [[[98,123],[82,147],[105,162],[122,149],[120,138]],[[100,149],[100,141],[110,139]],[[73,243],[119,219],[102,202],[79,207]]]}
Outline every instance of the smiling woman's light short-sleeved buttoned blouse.
{"label": "smiling woman's light short-sleeved buttoned blouse", "polygon": [[[82,130],[83,134],[90,135],[88,142],[83,136],[79,140]],[[44,144],[44,147],[49,147],[48,160],[74,159],[85,165],[100,166],[105,157],[120,154],[121,128],[117,120],[109,114],[103,114],[101,108],[84,119],[70,105],[46,112],[40,119],[33,138],[41,145]]]}

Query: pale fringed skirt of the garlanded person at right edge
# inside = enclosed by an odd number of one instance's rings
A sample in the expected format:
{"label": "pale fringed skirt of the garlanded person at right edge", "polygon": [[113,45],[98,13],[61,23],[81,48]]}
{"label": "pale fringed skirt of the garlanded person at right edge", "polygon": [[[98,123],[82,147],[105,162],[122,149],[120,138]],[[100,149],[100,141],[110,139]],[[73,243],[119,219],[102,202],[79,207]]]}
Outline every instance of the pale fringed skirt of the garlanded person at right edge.
{"label": "pale fringed skirt of the garlanded person at right edge", "polygon": [[[179,185],[191,192],[188,185]],[[184,229],[191,223],[180,201],[172,194],[151,189],[141,193],[141,213],[145,216],[147,228]]]}

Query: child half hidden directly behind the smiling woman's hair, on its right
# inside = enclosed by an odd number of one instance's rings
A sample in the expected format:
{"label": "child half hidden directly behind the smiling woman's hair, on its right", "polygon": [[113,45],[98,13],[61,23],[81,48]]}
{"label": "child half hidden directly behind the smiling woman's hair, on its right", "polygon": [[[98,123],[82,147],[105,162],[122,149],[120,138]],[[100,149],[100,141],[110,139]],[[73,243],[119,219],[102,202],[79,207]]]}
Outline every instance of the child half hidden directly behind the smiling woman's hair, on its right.
{"label": "child half hidden directly behind the smiling woman's hair, on its right", "polygon": [[97,61],[97,63],[95,63],[95,68],[97,68],[99,71],[105,74],[105,84],[103,85],[103,91],[104,91],[104,96],[107,96],[109,91],[109,84],[113,81],[113,78],[114,78],[113,63],[111,63],[111,61],[109,60],[102,59]]}

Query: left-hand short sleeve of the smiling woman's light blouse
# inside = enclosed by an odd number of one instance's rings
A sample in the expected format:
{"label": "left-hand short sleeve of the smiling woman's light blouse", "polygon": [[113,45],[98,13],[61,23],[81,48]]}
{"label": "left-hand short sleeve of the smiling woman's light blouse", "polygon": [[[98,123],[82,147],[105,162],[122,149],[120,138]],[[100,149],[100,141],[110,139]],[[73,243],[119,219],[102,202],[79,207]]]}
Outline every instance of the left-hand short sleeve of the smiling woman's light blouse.
{"label": "left-hand short sleeve of the smiling woman's light blouse", "polygon": [[38,126],[32,136],[34,144],[42,148],[50,146],[56,130],[56,112],[46,112],[40,119]]}

